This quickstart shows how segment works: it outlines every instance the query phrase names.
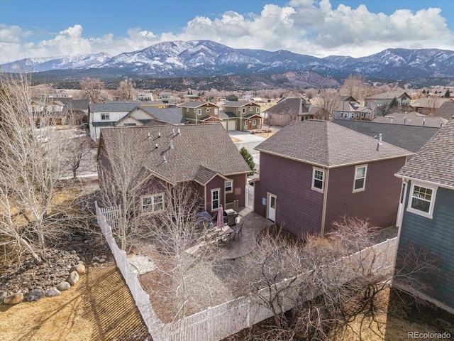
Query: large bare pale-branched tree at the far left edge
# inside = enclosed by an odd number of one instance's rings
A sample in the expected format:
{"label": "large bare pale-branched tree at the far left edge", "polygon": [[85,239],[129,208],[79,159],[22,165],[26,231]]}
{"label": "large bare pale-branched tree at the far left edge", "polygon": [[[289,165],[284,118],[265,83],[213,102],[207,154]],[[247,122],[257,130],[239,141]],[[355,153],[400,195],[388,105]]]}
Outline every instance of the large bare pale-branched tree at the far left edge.
{"label": "large bare pale-branched tree at the far left edge", "polygon": [[52,199],[66,144],[49,127],[35,129],[44,114],[32,110],[26,76],[1,77],[0,89],[0,243],[31,252],[40,264],[46,240],[62,231]]}

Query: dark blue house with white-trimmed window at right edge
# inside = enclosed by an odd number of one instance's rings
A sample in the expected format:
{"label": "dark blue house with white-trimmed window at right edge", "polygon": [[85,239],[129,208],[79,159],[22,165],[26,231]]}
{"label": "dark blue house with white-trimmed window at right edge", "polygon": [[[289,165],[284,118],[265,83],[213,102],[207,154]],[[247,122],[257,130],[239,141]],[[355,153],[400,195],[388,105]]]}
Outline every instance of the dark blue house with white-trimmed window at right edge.
{"label": "dark blue house with white-trimmed window at right edge", "polygon": [[[397,219],[399,254],[409,245],[440,259],[428,301],[454,313],[454,118],[396,176],[404,181]],[[397,269],[399,269],[399,258]]]}

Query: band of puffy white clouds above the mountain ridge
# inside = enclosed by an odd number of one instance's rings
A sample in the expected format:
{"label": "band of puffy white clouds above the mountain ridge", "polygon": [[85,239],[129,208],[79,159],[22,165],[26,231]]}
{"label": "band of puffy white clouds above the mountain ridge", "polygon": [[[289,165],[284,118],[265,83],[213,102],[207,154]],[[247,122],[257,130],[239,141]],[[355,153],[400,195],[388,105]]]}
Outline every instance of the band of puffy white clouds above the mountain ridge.
{"label": "band of puffy white clouds above the mountain ridge", "polygon": [[260,13],[245,16],[235,11],[226,11],[218,18],[196,16],[181,32],[160,36],[136,27],[128,29],[124,37],[107,33],[84,38],[82,26],[74,25],[54,38],[33,44],[27,40],[32,34],[19,26],[0,25],[2,61],[77,53],[117,55],[162,41],[201,39],[233,48],[290,50],[320,57],[358,57],[385,48],[454,49],[454,36],[441,9],[400,9],[387,15],[372,13],[367,5],[352,8],[341,4],[333,9],[329,0],[291,0],[287,6],[267,4]]}

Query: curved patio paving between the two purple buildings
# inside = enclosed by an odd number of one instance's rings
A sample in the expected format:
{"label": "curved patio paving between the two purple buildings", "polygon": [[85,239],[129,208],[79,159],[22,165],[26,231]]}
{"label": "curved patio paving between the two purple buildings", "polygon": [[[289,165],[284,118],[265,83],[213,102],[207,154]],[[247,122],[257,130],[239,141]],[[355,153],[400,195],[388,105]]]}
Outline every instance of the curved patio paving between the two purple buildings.
{"label": "curved patio paving between the two purple buildings", "polygon": [[248,207],[240,207],[238,215],[237,224],[243,224],[242,233],[234,241],[218,245],[218,257],[220,259],[236,259],[253,251],[260,231],[273,224]]}

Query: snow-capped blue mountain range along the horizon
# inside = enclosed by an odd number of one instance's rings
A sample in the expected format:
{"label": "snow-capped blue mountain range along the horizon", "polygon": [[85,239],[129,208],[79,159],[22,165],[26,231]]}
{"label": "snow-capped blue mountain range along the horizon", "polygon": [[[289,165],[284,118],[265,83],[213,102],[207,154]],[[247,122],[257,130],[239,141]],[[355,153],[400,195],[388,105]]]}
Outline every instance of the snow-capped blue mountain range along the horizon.
{"label": "snow-capped blue mountain range along the horizon", "polygon": [[380,79],[454,77],[454,51],[390,48],[367,57],[316,58],[286,50],[235,49],[211,40],[170,41],[111,56],[94,53],[58,58],[26,58],[0,65],[1,72],[96,70],[96,75],[130,77],[207,77],[277,74],[313,70],[328,77],[350,74]]}

